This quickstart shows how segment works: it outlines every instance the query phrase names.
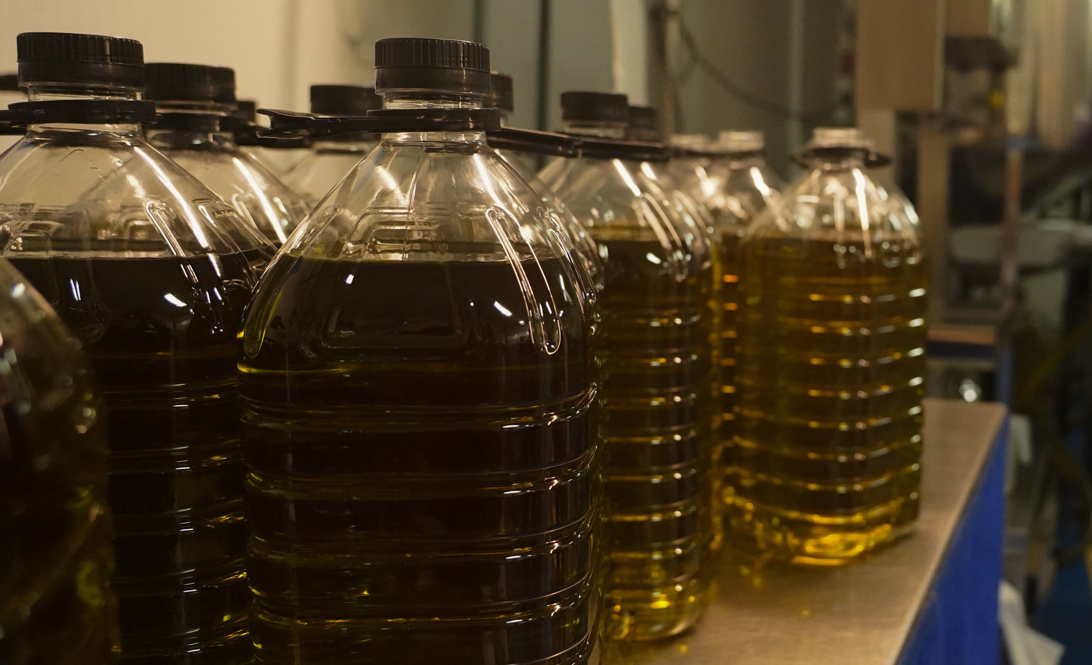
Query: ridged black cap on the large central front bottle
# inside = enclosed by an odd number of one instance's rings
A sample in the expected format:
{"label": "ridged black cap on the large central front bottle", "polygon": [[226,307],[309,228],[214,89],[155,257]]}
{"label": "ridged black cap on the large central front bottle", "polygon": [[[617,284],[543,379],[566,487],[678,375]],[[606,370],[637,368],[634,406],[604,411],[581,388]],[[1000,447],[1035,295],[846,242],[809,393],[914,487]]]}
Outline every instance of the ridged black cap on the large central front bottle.
{"label": "ridged black cap on the large central front bottle", "polygon": [[380,39],[376,41],[376,90],[488,95],[489,48],[458,39]]}

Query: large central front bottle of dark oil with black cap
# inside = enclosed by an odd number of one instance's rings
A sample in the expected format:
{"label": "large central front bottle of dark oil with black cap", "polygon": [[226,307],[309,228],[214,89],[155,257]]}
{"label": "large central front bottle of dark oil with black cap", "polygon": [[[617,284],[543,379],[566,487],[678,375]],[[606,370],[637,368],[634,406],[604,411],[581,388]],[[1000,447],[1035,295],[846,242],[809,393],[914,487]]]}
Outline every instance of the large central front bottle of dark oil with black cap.
{"label": "large central front bottle of dark oil with black cap", "polygon": [[[383,39],[385,110],[459,117],[488,49]],[[598,662],[598,401],[574,249],[480,131],[383,134],[242,336],[261,663]]]}

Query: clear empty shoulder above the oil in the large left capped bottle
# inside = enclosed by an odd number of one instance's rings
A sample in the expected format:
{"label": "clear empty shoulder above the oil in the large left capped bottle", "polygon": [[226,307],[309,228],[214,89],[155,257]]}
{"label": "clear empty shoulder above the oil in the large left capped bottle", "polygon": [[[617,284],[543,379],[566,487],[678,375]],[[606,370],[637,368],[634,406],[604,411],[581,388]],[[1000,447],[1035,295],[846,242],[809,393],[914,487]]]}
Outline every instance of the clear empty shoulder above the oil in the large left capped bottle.
{"label": "clear empty shoulder above the oil in the large left capped bottle", "polygon": [[139,135],[78,133],[28,134],[0,156],[2,253],[198,256],[269,247],[207,187]]}

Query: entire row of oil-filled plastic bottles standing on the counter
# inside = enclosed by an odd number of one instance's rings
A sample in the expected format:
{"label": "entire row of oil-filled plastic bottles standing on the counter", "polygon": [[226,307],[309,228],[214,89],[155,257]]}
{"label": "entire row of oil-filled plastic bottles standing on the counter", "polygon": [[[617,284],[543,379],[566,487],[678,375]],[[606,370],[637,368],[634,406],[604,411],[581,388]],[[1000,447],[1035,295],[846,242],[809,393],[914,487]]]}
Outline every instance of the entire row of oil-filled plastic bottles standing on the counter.
{"label": "entire row of oil-filled plastic bottles standing on the counter", "polygon": [[278,179],[232,70],[17,46],[12,662],[598,663],[692,626],[725,542],[831,565],[912,524],[924,269],[859,133],[779,194],[760,134],[667,161],[654,109],[571,92],[581,153],[536,174],[488,144],[486,47],[384,39],[312,112],[465,127]]}

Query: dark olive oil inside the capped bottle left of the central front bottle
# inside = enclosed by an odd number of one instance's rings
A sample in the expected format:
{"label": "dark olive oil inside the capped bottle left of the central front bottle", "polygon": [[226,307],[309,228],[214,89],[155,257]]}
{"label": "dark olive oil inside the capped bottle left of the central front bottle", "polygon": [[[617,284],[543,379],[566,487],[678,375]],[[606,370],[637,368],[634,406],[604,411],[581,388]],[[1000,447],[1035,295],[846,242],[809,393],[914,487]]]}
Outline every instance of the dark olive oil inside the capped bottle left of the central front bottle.
{"label": "dark olive oil inside the capped bottle left of the central front bottle", "polygon": [[122,656],[249,658],[236,337],[241,253],[13,254],[83,343],[109,412]]}

